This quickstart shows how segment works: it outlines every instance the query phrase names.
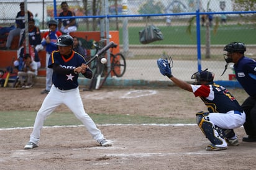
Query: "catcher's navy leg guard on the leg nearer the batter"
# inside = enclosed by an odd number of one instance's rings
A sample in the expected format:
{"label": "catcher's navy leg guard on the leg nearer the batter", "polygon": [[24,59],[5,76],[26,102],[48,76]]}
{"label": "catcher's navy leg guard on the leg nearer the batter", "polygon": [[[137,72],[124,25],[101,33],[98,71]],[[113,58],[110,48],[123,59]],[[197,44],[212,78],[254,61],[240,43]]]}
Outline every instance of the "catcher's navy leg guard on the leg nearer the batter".
{"label": "catcher's navy leg guard on the leg nearer the batter", "polygon": [[209,121],[209,117],[207,117],[207,115],[209,115],[209,113],[198,112],[196,114],[196,123],[198,123],[201,131],[214,145],[222,145],[226,143],[226,141],[219,136],[214,124]]}

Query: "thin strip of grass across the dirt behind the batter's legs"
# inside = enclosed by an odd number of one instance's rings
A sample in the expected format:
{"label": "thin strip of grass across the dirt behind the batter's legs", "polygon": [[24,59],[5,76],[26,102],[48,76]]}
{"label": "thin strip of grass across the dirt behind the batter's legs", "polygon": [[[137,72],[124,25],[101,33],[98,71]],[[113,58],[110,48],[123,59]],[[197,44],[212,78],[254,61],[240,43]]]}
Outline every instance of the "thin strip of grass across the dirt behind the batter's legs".
{"label": "thin strip of grass across the dirt behind the batter's legs", "polygon": [[[0,112],[0,128],[32,127],[37,112],[9,111]],[[194,119],[167,119],[165,117],[150,117],[141,115],[120,114],[89,114],[96,124],[144,124],[144,123],[195,123]],[[44,126],[53,125],[81,125],[71,112],[53,112],[45,120]]]}

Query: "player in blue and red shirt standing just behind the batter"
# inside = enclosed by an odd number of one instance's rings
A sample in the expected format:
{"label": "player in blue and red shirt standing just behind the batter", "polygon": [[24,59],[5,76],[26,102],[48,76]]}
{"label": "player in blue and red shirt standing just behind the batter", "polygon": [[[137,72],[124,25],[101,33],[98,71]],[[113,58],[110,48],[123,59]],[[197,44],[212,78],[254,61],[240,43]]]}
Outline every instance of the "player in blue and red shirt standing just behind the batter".
{"label": "player in blue and red shirt standing just behind the batter", "polygon": [[45,82],[45,89],[41,92],[41,94],[48,94],[52,87],[52,74],[53,69],[48,68],[48,61],[50,58],[50,55],[52,54],[52,51],[57,50],[57,38],[62,35],[61,32],[57,30],[58,22],[57,20],[50,20],[48,22],[49,31],[45,32],[42,39],[42,45],[45,47],[46,51],[46,82]]}

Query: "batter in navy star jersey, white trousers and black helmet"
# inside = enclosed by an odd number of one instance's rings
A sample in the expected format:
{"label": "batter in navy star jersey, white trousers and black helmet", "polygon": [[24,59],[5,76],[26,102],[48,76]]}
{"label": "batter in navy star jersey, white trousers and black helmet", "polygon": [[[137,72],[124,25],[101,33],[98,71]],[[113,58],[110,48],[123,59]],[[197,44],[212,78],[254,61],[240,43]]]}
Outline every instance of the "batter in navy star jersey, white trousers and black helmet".
{"label": "batter in navy star jersey, white trousers and black helmet", "polygon": [[78,74],[91,79],[93,73],[87,65],[83,56],[79,55],[73,48],[73,38],[70,35],[61,35],[57,39],[58,51],[53,51],[50,56],[48,68],[53,69],[53,85],[45,97],[37,117],[35,118],[34,129],[25,149],[32,149],[39,146],[40,132],[43,122],[48,115],[61,104],[65,104],[81,120],[86,129],[98,141],[101,146],[111,146],[95,123],[86,114],[80,91],[78,89]]}

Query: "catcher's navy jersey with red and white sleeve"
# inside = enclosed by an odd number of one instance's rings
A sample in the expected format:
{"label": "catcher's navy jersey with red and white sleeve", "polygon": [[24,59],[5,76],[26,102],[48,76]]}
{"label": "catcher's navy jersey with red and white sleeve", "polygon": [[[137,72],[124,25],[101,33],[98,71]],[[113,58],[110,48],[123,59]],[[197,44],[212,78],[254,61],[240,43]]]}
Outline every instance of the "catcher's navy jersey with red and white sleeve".
{"label": "catcher's navy jersey with red and white sleeve", "polygon": [[242,107],[226,88],[217,84],[191,85],[194,96],[200,97],[210,113],[243,112]]}

